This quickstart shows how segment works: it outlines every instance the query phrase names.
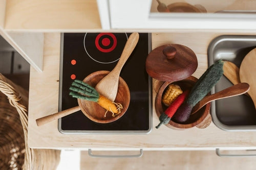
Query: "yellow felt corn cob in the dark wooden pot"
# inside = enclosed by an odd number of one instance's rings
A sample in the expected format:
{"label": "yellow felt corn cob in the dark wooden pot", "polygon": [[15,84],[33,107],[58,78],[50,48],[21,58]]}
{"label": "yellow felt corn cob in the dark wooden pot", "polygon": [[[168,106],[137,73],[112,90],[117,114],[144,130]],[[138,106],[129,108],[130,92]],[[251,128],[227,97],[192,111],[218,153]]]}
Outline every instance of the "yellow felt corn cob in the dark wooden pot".
{"label": "yellow felt corn cob in the dark wooden pot", "polygon": [[180,86],[176,84],[169,84],[167,90],[165,91],[162,102],[165,106],[170,106],[170,104],[175,101],[176,98],[182,93]]}

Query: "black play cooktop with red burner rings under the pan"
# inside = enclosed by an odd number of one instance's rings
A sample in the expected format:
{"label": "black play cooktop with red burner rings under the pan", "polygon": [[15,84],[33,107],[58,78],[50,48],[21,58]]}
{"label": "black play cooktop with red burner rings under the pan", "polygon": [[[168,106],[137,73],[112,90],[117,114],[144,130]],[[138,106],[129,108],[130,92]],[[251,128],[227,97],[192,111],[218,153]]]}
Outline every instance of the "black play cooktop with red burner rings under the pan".
{"label": "black play cooktop with red burner rings under the pan", "polygon": [[[98,70],[111,71],[121,56],[130,33],[61,34],[59,111],[78,106],[69,95],[74,79],[83,80]],[[151,78],[145,60],[151,50],[150,34],[140,33],[139,42],[124,64],[120,76],[129,86],[131,101],[125,114],[112,123],[90,120],[82,111],[59,118],[61,133],[148,133],[152,128]]]}

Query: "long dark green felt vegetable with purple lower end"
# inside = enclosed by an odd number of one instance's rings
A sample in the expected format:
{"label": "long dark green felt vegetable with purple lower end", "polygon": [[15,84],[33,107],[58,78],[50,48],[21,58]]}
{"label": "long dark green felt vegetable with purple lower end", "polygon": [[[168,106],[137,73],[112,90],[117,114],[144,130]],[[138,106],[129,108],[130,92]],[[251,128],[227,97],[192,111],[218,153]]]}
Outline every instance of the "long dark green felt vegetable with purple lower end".
{"label": "long dark green felt vegetable with purple lower end", "polygon": [[204,74],[199,78],[196,84],[191,89],[187,96],[187,99],[178,108],[173,116],[173,120],[177,123],[186,122],[189,118],[193,107],[201,101],[204,96],[216,85],[223,75],[223,64],[222,60],[212,64]]}

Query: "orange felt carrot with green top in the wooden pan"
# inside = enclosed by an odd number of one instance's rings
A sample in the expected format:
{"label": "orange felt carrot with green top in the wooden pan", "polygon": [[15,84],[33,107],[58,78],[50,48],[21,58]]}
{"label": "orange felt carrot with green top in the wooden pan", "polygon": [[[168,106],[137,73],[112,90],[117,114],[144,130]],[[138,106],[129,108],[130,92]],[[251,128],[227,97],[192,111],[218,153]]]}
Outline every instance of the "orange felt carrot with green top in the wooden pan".
{"label": "orange felt carrot with green top in the wooden pan", "polygon": [[123,108],[120,103],[111,102],[105,96],[100,95],[95,88],[80,80],[75,80],[69,89],[71,90],[69,94],[73,98],[97,102],[101,107],[106,109],[106,112],[112,112],[113,117],[119,114]]}

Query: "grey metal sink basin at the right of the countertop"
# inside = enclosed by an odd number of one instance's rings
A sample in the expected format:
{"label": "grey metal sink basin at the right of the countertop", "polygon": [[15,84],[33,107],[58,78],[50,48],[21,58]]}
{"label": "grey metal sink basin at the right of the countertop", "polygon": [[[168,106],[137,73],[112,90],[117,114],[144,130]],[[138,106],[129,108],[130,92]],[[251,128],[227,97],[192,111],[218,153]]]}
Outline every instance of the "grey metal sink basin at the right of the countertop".
{"label": "grey metal sink basin at the right of the countertop", "polygon": [[[208,47],[208,65],[219,59],[228,60],[240,67],[243,58],[256,47],[256,36],[223,35],[211,41]],[[255,65],[256,66],[256,65]],[[232,83],[222,76],[211,90],[221,91]],[[239,95],[211,103],[212,122],[225,131],[256,131],[256,111],[247,95]]]}

